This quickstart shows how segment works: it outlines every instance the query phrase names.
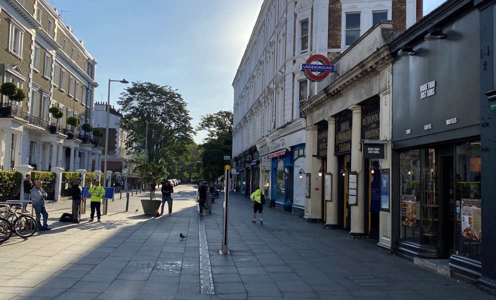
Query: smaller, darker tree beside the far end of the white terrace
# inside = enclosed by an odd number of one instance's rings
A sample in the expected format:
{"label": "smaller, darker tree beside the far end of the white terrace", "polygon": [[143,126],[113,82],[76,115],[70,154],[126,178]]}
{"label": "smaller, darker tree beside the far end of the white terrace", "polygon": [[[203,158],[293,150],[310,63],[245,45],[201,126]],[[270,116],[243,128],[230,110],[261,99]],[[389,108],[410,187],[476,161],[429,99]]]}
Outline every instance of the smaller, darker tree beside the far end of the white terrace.
{"label": "smaller, darker tree beside the far end of the white terrace", "polygon": [[200,176],[216,180],[224,173],[224,155],[232,153],[232,112],[221,110],[201,117],[196,130],[208,131],[205,143],[199,145],[201,155]]}

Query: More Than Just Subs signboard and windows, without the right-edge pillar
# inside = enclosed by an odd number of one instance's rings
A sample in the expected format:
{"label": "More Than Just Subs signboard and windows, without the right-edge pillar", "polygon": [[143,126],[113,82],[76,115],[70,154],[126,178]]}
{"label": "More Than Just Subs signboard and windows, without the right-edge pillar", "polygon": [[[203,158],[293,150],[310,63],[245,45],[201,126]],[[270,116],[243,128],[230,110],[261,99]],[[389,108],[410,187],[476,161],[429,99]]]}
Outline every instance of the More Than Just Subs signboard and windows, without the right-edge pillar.
{"label": "More Than Just Subs signboard and windows, without the right-edge pillar", "polygon": [[[481,274],[484,222],[478,18],[472,9],[424,20],[391,44],[394,246],[468,280]],[[432,28],[445,38],[425,38]],[[397,55],[406,43],[422,54]]]}

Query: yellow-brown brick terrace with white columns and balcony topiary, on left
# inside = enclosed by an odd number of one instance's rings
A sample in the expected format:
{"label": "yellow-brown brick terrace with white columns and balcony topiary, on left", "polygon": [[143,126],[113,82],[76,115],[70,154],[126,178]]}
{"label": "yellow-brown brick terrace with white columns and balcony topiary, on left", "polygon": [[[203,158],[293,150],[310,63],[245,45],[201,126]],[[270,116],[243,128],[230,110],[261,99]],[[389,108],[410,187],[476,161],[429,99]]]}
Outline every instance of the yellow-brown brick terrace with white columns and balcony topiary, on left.
{"label": "yellow-brown brick terrace with white columns and balcony topiary, on left", "polygon": [[[101,148],[69,116],[93,123],[96,60],[46,0],[0,0],[1,82],[24,89],[21,102],[2,99],[0,165],[4,170],[30,165],[90,170],[91,154]],[[18,41],[20,40],[20,42]],[[21,44],[21,46],[20,46]],[[63,117],[48,109],[58,106]]]}

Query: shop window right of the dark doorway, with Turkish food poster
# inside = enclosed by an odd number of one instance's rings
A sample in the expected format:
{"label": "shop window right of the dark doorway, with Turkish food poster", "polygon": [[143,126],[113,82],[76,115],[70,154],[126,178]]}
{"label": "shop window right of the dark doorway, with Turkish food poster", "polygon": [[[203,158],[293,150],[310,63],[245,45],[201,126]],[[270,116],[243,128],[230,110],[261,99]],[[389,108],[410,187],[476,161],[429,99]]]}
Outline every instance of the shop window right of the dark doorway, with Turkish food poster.
{"label": "shop window right of the dark doorway, with Turkish food poster", "polygon": [[456,254],[481,259],[480,142],[456,146]]}

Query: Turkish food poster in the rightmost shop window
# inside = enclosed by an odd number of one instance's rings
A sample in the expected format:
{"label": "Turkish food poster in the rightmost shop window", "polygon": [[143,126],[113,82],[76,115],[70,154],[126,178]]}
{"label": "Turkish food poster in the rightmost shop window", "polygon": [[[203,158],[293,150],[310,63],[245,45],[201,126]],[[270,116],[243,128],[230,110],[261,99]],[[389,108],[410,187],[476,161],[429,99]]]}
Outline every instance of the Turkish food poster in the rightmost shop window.
{"label": "Turkish food poster in the rightmost shop window", "polygon": [[482,240],[480,199],[461,199],[461,235],[468,239]]}

